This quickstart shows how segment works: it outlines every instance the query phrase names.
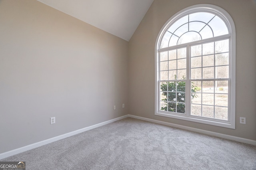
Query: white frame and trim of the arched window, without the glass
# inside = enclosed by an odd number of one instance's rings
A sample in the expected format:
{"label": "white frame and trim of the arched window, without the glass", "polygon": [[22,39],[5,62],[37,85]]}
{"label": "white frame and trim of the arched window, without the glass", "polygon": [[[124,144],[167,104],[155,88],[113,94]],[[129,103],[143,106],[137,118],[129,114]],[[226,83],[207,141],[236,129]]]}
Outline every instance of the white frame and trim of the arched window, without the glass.
{"label": "white frame and trim of the arched window, without the glass", "polygon": [[[182,114],[175,114],[175,113],[164,113],[160,111],[160,106],[159,106],[159,101],[160,101],[160,87],[159,87],[159,80],[160,80],[160,74],[159,74],[159,46],[160,46],[160,41],[162,36],[164,36],[164,32],[169,28],[171,23],[176,22],[183,16],[186,16],[191,13],[195,12],[211,12],[213,14],[216,14],[218,17],[220,17],[224,22],[227,24],[227,28],[230,31],[230,61],[229,61],[229,75],[230,75],[230,84],[229,84],[229,107],[228,107],[228,112],[229,112],[229,121],[222,121],[222,120],[212,120],[212,119],[207,119],[205,117],[194,117],[190,115],[190,113],[186,113],[185,115]],[[223,36],[223,38],[225,38]],[[214,38],[209,38],[206,40],[199,40],[197,43],[201,42],[206,42],[206,41],[211,41],[214,40]],[[193,42],[195,43],[195,42]],[[189,43],[188,44],[181,44],[181,46],[187,46],[187,53],[189,52]],[[168,48],[168,47],[167,47]],[[189,63],[187,63],[188,65]],[[187,69],[189,67],[187,66]],[[186,81],[186,91],[187,89],[190,89],[190,79],[187,79]],[[190,90],[189,90],[190,91]],[[187,95],[189,95],[187,93]],[[190,105],[190,99],[186,101],[186,108],[188,108]],[[174,14],[162,27],[160,30],[158,37],[156,39],[156,44],[155,44],[155,115],[158,116],[164,116],[164,117],[170,117],[170,118],[175,118],[175,119],[181,119],[181,120],[186,120],[186,121],[192,121],[192,122],[197,122],[197,123],[204,123],[208,125],[215,125],[219,127],[226,127],[226,128],[232,128],[235,129],[235,108],[236,108],[236,30],[235,30],[235,25],[234,21],[232,20],[231,16],[226,12],[224,9],[211,5],[211,4],[198,4],[194,6],[190,6],[188,8],[185,8],[181,10],[180,12]],[[187,112],[187,111],[186,111]]]}

